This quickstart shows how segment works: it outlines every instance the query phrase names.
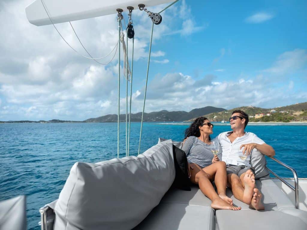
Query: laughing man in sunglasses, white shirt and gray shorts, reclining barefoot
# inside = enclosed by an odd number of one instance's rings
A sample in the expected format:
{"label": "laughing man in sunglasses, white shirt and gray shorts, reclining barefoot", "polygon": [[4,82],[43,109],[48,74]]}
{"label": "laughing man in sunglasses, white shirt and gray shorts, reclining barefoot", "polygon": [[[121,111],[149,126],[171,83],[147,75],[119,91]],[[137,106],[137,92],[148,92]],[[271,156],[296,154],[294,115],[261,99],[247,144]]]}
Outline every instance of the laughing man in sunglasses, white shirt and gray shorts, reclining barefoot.
{"label": "laughing man in sunglasses, white shirt and gray shorts, reclining barefoot", "polygon": [[[235,198],[253,209],[263,210],[262,194],[255,187],[254,169],[249,164],[250,155],[253,149],[267,156],[274,156],[275,151],[254,133],[244,131],[248,115],[243,111],[233,111],[229,121],[233,131],[222,132],[217,137],[223,148],[222,161],[226,163],[227,186],[231,188]],[[246,155],[245,162],[248,163],[244,163],[240,155]]]}

